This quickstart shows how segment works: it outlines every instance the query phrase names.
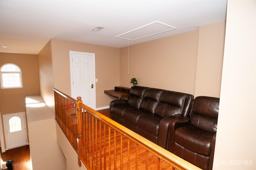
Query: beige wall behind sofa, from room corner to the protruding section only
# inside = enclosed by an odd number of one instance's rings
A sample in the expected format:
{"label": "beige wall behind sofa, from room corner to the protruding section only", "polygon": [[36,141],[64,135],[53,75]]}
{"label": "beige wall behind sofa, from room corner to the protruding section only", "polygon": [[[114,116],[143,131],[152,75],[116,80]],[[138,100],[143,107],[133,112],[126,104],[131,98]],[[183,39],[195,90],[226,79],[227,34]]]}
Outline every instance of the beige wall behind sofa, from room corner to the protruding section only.
{"label": "beige wall behind sofa, from room corner to the protruding section only", "polygon": [[[198,30],[121,48],[120,85],[162,88],[194,94]],[[129,74],[128,74],[129,64]]]}

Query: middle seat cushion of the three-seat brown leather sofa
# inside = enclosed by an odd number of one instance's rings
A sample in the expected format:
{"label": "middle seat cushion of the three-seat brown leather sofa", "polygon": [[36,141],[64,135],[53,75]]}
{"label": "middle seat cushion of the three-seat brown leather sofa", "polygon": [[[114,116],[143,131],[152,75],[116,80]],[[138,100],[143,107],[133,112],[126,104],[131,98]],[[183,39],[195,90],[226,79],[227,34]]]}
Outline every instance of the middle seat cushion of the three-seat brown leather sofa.
{"label": "middle seat cushion of the three-seat brown leather sofa", "polygon": [[140,116],[145,114],[149,114],[147,111],[136,109],[136,108],[128,108],[123,111],[122,118],[131,124],[137,125],[137,120]]}

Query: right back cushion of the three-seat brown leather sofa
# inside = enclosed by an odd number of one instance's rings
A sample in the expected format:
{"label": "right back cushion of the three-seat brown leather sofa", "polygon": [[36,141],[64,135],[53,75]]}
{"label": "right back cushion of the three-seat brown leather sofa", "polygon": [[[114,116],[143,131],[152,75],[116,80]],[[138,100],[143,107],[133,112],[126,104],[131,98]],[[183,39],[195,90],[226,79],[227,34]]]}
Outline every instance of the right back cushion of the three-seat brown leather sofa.
{"label": "right back cushion of the three-seat brown leather sofa", "polygon": [[173,91],[163,91],[156,107],[158,116],[184,116],[186,117],[194,96]]}

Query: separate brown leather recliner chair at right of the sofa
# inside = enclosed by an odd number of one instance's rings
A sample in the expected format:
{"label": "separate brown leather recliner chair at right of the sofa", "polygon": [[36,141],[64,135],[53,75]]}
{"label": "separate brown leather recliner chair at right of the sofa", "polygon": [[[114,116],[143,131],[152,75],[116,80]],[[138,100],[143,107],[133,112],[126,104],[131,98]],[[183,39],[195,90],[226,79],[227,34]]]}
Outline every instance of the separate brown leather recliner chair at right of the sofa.
{"label": "separate brown leather recliner chair at right of the sofa", "polygon": [[190,118],[170,122],[168,150],[204,170],[212,170],[219,100],[198,96],[192,102]]}

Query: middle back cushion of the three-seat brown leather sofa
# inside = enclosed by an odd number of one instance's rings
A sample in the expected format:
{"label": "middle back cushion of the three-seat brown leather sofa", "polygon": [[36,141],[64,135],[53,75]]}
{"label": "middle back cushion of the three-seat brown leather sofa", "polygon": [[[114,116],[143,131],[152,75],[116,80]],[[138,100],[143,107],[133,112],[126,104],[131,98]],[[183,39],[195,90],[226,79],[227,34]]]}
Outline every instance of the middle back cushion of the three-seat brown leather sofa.
{"label": "middle back cushion of the three-seat brown leather sofa", "polygon": [[146,111],[154,114],[162,92],[163,92],[163,90],[161,90],[161,89],[148,88],[145,91],[143,100],[140,104],[140,109],[146,110]]}

